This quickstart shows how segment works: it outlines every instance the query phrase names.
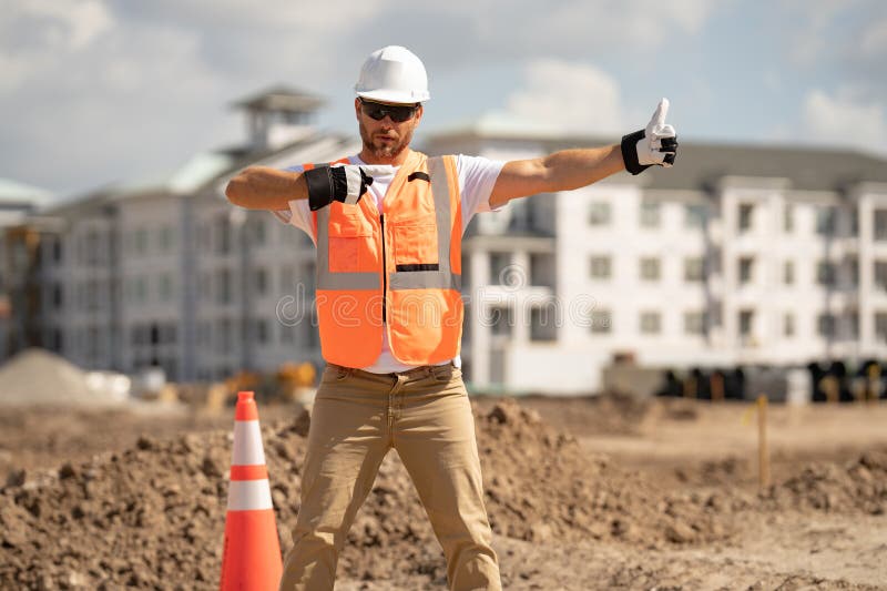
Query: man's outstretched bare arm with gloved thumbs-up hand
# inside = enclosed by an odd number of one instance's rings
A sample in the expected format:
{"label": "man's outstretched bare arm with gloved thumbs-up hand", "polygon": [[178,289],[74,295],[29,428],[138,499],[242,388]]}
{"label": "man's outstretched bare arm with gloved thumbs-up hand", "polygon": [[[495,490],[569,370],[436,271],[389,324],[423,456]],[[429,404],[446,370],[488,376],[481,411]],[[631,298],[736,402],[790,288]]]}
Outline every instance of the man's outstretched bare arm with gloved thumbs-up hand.
{"label": "man's outstretched bare arm with gloved thumbs-up hand", "polygon": [[646,129],[605,147],[563,150],[548,156],[507,162],[490,194],[490,206],[537,193],[571,191],[628,170],[639,174],[652,165],[671,166],[677,154],[677,134],[665,124],[669,100],[662,99]]}

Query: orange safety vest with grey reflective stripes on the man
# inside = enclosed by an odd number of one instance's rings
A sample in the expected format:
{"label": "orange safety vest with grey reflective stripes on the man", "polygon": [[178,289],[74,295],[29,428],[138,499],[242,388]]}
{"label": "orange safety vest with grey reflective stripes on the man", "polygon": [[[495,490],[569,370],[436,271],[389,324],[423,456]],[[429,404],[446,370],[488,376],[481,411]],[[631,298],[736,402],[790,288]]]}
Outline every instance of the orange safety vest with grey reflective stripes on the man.
{"label": "orange safety vest with grey reflective stripes on the man", "polygon": [[383,203],[384,215],[371,196],[313,213],[324,359],[373,365],[383,327],[400,363],[451,359],[459,354],[465,315],[456,159],[410,151]]}

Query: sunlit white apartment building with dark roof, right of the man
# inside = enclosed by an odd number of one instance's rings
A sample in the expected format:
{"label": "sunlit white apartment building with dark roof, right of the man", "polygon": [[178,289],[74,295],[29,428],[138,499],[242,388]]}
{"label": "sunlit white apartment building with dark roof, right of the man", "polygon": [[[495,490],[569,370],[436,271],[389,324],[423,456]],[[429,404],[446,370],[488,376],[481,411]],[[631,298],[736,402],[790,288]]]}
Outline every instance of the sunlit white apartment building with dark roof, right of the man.
{"label": "sunlit white apartment building with dark roof, right of the man", "polygon": [[[510,160],[602,143],[481,120],[428,147]],[[570,394],[598,388],[618,357],[676,369],[883,358],[885,254],[887,161],[682,141],[672,170],[479,216],[465,363],[478,388]]]}

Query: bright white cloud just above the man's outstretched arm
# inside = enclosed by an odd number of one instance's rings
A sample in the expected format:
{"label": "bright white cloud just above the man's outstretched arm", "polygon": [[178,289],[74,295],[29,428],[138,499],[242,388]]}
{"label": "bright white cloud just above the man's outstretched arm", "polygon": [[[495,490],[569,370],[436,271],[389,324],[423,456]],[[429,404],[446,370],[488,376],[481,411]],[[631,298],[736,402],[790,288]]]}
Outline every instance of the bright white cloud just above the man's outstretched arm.
{"label": "bright white cloud just above the man's outstretched arm", "polygon": [[507,113],[571,133],[616,133],[624,129],[619,83],[585,63],[533,60],[524,85],[507,100]]}

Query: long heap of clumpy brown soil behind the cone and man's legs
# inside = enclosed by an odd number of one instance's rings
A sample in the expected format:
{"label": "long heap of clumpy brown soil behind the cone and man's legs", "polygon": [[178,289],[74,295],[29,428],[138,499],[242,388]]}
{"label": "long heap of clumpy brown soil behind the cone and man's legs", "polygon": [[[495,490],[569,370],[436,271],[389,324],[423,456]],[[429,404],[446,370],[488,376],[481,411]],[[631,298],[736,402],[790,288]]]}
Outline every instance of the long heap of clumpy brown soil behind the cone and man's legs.
{"label": "long heap of clumpy brown soil behind the cone and man's legs", "polygon": [[[737,512],[750,507],[725,492],[662,490],[588,454],[513,401],[476,410],[475,419],[490,520],[513,539],[597,539],[638,548],[706,542],[728,536]],[[284,549],[298,510],[307,426],[303,416],[263,429]],[[230,456],[230,431],[220,430],[142,437],[120,454],[13,473],[0,491],[0,588],[214,589]],[[883,493],[884,457],[859,466]],[[865,479],[860,468],[850,472]],[[791,490],[786,485],[778,493]],[[383,462],[351,528],[340,573],[368,581],[407,574],[445,580],[439,546],[395,454]]]}

